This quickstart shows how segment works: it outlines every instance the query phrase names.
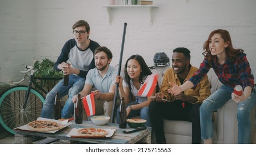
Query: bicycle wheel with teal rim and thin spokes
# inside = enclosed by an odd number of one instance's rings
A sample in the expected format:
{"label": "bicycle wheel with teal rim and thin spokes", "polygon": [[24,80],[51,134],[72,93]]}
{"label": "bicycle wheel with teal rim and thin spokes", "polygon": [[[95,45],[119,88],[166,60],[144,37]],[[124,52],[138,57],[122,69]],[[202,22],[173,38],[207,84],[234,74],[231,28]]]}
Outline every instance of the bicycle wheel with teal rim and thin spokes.
{"label": "bicycle wheel with teal rim and thin spokes", "polygon": [[44,96],[32,88],[27,106],[23,108],[27,91],[28,86],[13,86],[0,98],[0,123],[10,133],[14,134],[13,128],[35,121],[41,115]]}

